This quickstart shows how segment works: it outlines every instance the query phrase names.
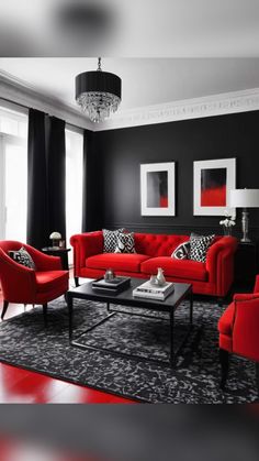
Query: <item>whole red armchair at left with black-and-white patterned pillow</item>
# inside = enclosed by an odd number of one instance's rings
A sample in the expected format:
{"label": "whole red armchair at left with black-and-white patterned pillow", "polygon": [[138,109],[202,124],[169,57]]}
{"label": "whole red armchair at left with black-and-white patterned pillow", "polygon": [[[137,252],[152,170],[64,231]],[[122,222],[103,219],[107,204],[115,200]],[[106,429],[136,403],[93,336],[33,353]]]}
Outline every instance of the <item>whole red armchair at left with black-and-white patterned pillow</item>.
{"label": "whole red armchair at left with black-and-white patterned pillow", "polygon": [[[8,252],[23,246],[32,256],[36,270],[13,261]],[[3,319],[9,303],[43,305],[44,322],[47,321],[47,303],[68,290],[68,271],[61,270],[59,257],[48,256],[27,244],[0,241],[0,281],[3,293]]]}

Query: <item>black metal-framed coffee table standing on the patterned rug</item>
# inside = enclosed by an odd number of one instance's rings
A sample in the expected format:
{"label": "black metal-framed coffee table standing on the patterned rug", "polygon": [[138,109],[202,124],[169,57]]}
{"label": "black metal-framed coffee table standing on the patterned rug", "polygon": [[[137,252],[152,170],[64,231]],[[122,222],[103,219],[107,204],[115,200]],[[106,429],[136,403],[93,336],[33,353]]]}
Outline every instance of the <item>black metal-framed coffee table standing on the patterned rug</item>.
{"label": "black metal-framed coffee table standing on the patterned rug", "polygon": [[[69,311],[69,341],[71,345],[81,348],[81,349],[90,349],[90,350],[97,350],[97,351],[105,351],[109,352],[111,354],[115,354],[115,355],[121,355],[121,356],[128,356],[131,359],[137,359],[137,360],[142,360],[142,361],[150,361],[150,362],[156,362],[156,363],[164,363],[166,365],[171,365],[173,366],[176,363],[176,358],[179,354],[183,343],[185,342],[190,330],[192,328],[192,311],[193,311],[193,299],[192,299],[192,286],[189,284],[179,284],[179,283],[174,283],[174,292],[169,295],[165,300],[155,300],[155,299],[149,299],[149,298],[137,298],[137,297],[133,297],[133,289],[136,288],[137,286],[142,285],[145,282],[145,279],[140,279],[140,278],[132,278],[131,281],[131,287],[125,289],[122,293],[115,294],[115,293],[110,293],[110,292],[98,292],[92,289],[92,283],[88,282],[77,288],[72,288],[69,289],[67,292],[67,303],[68,303],[68,311]],[[179,344],[178,349],[174,350],[173,347],[173,330],[174,330],[174,311],[176,309],[180,306],[180,304],[184,300],[189,298],[190,299],[190,306],[189,306],[189,328],[187,333],[184,334],[184,338],[182,339],[181,343]],[[83,332],[81,332],[80,334],[77,336],[77,338],[75,338],[74,336],[74,299],[86,299],[86,300],[92,300],[92,301],[101,301],[101,303],[106,303],[108,305],[108,311],[109,315],[100,320],[99,322],[97,322],[95,325],[93,325],[92,327],[88,328],[87,330],[85,330]],[[100,326],[101,323],[105,322],[108,319],[110,319],[112,316],[115,316],[117,314],[120,314],[120,310],[111,310],[110,309],[110,304],[114,304],[114,305],[121,305],[121,306],[128,306],[128,307],[135,307],[138,309],[145,309],[145,310],[154,310],[154,311],[159,311],[159,312],[168,312],[169,314],[169,319],[170,319],[170,360],[169,362],[167,361],[161,361],[161,360],[155,360],[155,359],[147,359],[147,358],[143,358],[140,355],[134,355],[134,354],[130,354],[130,353],[125,353],[125,352],[119,352],[119,351],[113,351],[111,349],[106,349],[106,348],[100,348],[100,347],[95,347],[95,345],[87,345],[87,344],[81,344],[78,340],[82,334],[86,334],[87,332],[93,330],[94,328],[97,328],[98,326]],[[140,315],[140,314],[135,314],[135,312],[126,312],[123,311],[123,314],[127,314],[131,316],[140,316],[144,318],[151,318],[154,319],[154,317],[148,316],[148,315]],[[157,318],[157,317],[155,317]],[[165,318],[164,318],[165,320]]]}

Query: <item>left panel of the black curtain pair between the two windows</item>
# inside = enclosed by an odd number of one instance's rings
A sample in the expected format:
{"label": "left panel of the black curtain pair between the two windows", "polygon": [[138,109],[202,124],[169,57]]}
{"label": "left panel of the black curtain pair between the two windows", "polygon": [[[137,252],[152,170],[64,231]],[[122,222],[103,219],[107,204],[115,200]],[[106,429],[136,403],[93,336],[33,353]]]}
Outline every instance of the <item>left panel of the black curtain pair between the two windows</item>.
{"label": "left panel of the black curtain pair between the two windows", "polygon": [[41,249],[49,244],[45,113],[29,111],[27,138],[27,243]]}

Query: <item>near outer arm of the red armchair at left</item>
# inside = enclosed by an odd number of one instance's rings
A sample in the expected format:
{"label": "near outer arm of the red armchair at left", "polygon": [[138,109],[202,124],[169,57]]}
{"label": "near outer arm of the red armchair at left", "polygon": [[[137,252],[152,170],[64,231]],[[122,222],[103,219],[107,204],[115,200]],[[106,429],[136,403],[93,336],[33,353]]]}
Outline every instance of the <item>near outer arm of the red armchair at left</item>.
{"label": "near outer arm of the red armchair at left", "polygon": [[35,271],[18,264],[0,249],[0,276],[3,297],[10,303],[33,303]]}

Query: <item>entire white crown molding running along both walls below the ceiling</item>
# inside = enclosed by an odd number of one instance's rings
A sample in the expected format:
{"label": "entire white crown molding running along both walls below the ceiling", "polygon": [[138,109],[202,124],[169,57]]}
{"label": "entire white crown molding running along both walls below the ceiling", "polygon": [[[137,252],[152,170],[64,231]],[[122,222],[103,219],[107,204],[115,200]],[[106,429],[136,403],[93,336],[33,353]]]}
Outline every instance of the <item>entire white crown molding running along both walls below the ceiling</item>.
{"label": "entire white crown molding running along both walls below the ceiling", "polygon": [[0,98],[42,110],[67,123],[95,132],[259,110],[259,88],[252,88],[124,111],[119,109],[105,122],[92,123],[74,106],[40,92],[32,85],[3,70],[0,72]]}

